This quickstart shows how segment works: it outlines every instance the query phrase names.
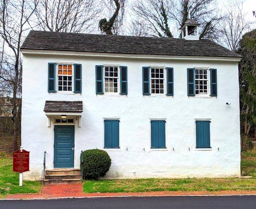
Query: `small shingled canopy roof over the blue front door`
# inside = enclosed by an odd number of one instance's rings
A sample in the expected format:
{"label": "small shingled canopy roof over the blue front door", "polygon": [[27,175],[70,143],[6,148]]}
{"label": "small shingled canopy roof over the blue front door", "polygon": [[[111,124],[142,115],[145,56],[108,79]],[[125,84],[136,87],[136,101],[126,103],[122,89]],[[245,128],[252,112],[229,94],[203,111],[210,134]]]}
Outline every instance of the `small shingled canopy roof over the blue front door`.
{"label": "small shingled canopy roof over the blue front door", "polygon": [[83,101],[46,101],[44,112],[83,112]]}

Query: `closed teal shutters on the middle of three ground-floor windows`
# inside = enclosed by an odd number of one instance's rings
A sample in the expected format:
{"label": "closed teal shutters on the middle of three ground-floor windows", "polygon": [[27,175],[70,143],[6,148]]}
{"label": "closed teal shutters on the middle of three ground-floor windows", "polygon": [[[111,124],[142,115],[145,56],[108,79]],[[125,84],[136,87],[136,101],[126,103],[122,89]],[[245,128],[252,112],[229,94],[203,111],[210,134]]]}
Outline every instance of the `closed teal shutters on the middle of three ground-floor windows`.
{"label": "closed teal shutters on the middle of three ground-floor windows", "polygon": [[151,148],[166,148],[165,121],[151,120]]}

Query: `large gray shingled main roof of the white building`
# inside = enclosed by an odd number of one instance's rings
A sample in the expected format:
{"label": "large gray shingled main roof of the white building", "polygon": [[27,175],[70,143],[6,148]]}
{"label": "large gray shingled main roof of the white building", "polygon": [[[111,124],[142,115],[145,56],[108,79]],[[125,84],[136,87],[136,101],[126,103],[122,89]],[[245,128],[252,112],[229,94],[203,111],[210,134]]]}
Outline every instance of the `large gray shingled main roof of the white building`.
{"label": "large gray shingled main roof of the white building", "polygon": [[48,31],[30,31],[21,49],[152,55],[240,56],[205,39],[194,41]]}

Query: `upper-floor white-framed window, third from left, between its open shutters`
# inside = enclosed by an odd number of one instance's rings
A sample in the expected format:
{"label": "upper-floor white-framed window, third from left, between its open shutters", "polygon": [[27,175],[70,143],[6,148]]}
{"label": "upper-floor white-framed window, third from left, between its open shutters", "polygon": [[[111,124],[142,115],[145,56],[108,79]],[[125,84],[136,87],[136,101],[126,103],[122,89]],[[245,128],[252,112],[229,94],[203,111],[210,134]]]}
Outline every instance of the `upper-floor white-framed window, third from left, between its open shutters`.
{"label": "upper-floor white-framed window, third from left, between its open shutters", "polygon": [[150,68],[151,94],[164,94],[164,68]]}

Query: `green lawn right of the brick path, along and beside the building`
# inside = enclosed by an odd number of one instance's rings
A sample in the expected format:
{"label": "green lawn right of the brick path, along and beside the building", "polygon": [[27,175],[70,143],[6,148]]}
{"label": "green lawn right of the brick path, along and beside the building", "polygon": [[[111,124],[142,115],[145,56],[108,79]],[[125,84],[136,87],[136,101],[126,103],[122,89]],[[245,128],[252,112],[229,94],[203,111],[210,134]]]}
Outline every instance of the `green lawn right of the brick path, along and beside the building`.
{"label": "green lawn right of the brick path, along and beside the building", "polygon": [[86,180],[85,193],[256,190],[256,154],[242,153],[241,170],[253,178]]}

